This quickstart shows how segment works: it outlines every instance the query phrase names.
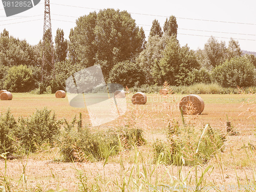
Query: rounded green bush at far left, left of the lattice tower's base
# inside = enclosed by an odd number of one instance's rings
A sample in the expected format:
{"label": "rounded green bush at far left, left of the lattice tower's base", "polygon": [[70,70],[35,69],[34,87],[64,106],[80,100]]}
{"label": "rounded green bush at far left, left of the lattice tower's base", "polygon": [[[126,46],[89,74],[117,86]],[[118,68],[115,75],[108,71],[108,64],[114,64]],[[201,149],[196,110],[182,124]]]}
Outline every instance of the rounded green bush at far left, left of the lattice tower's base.
{"label": "rounded green bush at far left, left of the lattice tower's base", "polygon": [[5,76],[4,88],[10,92],[28,92],[35,88],[33,71],[24,65],[13,66]]}

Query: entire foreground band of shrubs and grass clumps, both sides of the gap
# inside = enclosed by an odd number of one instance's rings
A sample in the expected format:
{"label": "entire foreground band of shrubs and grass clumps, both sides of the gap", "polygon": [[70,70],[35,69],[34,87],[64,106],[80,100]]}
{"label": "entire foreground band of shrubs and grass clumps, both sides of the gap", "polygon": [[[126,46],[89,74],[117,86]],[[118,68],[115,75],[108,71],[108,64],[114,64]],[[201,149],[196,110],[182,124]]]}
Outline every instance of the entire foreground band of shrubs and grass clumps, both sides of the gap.
{"label": "entire foreground band of shrubs and grass clumps, both sides of the gap", "polygon": [[[209,125],[206,128],[196,130],[186,125],[179,126],[175,120],[170,121],[166,129],[167,141],[153,143],[155,161],[177,165],[206,163],[223,149],[225,141],[223,133]],[[17,143],[25,153],[35,152],[42,144],[48,143],[60,148],[62,161],[99,161],[145,142],[142,130],[126,125],[93,132],[89,126],[82,126],[81,114],[71,123],[65,119],[57,120],[47,108],[17,121],[10,110],[0,116],[0,154],[18,154]]]}

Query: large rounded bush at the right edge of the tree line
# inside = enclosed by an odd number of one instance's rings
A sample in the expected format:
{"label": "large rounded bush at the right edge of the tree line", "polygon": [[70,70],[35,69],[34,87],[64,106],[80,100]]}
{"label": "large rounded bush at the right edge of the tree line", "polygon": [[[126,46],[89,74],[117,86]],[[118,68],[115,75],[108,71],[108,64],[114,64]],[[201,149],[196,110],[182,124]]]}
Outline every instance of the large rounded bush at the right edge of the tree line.
{"label": "large rounded bush at the right edge of the tree line", "polygon": [[212,81],[223,87],[249,87],[254,85],[254,66],[246,57],[233,57],[212,71]]}

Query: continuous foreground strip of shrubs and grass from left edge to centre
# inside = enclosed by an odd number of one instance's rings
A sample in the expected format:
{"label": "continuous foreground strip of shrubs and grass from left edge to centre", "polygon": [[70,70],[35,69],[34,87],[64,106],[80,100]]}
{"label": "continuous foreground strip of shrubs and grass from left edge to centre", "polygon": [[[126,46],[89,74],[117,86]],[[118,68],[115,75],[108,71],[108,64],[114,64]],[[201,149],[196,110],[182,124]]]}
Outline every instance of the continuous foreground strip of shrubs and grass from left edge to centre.
{"label": "continuous foreground strip of shrubs and grass from left edge to centre", "polygon": [[[51,110],[37,110],[29,118],[15,120],[10,110],[0,116],[0,154],[35,152],[42,144],[58,146],[64,161],[97,161],[145,143],[142,130],[119,127],[115,130],[92,132],[82,127],[82,118],[71,123],[57,120]],[[58,144],[56,144],[58,143]],[[21,147],[17,151],[17,146]]]}

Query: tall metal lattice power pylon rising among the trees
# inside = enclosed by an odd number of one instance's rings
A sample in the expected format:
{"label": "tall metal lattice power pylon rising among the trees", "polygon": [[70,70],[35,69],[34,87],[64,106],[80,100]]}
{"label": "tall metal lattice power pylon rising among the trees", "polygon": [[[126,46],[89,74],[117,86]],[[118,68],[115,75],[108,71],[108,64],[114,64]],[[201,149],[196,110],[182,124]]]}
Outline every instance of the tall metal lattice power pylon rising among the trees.
{"label": "tall metal lattice power pylon rising among the trees", "polygon": [[55,77],[54,70],[54,50],[52,39],[52,24],[50,14],[50,0],[45,0],[44,36],[42,37],[42,71],[40,93],[44,92],[42,85],[49,82],[49,75]]}

